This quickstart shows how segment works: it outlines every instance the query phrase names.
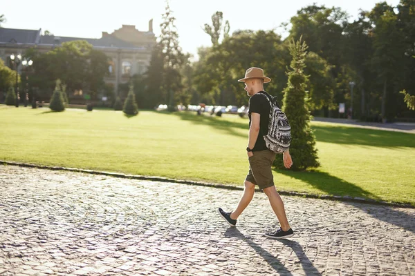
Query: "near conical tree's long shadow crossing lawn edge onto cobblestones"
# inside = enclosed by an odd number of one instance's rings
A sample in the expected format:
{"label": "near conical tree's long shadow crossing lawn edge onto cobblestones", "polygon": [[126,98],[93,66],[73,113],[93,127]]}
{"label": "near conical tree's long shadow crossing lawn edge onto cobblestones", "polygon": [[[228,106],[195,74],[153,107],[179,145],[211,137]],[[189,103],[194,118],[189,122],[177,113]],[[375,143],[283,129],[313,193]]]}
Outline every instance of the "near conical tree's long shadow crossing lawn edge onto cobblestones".
{"label": "near conical tree's long shadow crossing lawn edge onto cobblestones", "polygon": [[[381,201],[380,197],[373,195],[367,190],[364,190],[357,186],[356,184],[345,181],[333,175],[330,175],[327,172],[293,172],[290,170],[276,170],[283,175],[288,177],[293,177],[304,181],[311,186],[322,190],[326,195],[349,195],[351,197],[360,197],[360,198],[369,198],[375,199],[376,201]],[[415,233],[415,217],[414,215],[409,215],[400,210],[396,210],[394,207],[382,206],[379,208],[371,210],[369,204],[356,203],[351,201],[346,201],[347,204],[353,205],[356,208],[360,208],[365,213],[368,213],[376,219],[387,222],[388,224],[394,224],[395,226],[404,228],[412,233]]]}

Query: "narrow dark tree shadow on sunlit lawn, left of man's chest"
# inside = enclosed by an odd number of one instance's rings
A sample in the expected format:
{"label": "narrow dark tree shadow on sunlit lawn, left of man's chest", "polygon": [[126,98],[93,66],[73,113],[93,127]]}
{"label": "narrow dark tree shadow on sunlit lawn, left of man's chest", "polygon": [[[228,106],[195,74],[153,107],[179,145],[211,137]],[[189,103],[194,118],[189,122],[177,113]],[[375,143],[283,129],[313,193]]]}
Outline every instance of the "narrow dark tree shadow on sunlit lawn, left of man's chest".
{"label": "narrow dark tree shadow on sunlit lawn, left of man's chest", "polygon": [[[210,117],[206,115],[197,116],[189,112],[174,112],[173,115],[176,115],[185,121],[192,121],[192,124],[211,126],[212,128],[228,132],[230,135],[248,138],[248,121],[246,121],[246,123],[238,123],[236,121],[224,120],[220,117]],[[234,131],[234,128],[246,130],[246,134]]]}

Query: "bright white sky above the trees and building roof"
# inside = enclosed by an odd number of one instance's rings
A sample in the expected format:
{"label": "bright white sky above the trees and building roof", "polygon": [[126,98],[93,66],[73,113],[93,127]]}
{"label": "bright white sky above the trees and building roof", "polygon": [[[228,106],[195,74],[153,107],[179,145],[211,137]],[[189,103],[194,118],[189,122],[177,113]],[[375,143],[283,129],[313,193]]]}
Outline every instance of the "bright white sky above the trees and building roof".
{"label": "bright white sky above the trees and building roof", "polygon": [[[8,2],[6,4],[5,2]],[[185,52],[196,54],[200,46],[210,46],[210,37],[203,32],[205,23],[211,24],[212,14],[223,12],[223,19],[234,30],[271,30],[283,34],[281,23],[288,22],[297,10],[317,3],[326,7],[340,7],[351,19],[358,16],[359,9],[371,10],[380,0],[170,0],[176,17],[181,47]],[[396,6],[399,0],[387,0]],[[42,28],[60,37],[100,38],[101,32],[113,32],[122,24],[135,25],[138,30],[148,30],[148,21],[154,19],[154,32],[160,34],[161,14],[165,0],[0,0],[0,14],[6,17],[4,28]],[[284,34],[283,34],[284,37]]]}

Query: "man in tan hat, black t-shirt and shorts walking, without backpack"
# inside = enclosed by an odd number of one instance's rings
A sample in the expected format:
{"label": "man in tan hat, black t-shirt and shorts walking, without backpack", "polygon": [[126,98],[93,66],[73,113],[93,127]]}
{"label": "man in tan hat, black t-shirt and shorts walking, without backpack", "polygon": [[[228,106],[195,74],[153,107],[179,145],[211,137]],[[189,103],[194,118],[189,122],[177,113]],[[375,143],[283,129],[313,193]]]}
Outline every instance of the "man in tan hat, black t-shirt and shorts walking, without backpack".
{"label": "man in tan hat, black t-shirt and shorts walking, without backpack", "polygon": [[[250,204],[254,196],[255,185],[258,185],[268,197],[281,226],[273,232],[266,233],[266,237],[273,239],[292,237],[294,232],[288,224],[284,210],[284,202],[274,186],[271,166],[275,159],[275,152],[268,150],[263,137],[263,134],[268,132],[268,118],[270,113],[270,103],[266,99],[270,95],[264,91],[264,83],[270,82],[271,79],[264,76],[264,70],[261,68],[252,67],[246,70],[245,77],[238,81],[245,83],[245,90],[250,97],[248,147],[246,148],[250,168],[245,179],[243,195],[239,200],[237,208],[232,212],[225,212],[222,208],[219,208],[219,214],[230,226],[236,226],[239,215]],[[284,166],[291,168],[293,161],[289,150],[283,153],[283,160]]]}

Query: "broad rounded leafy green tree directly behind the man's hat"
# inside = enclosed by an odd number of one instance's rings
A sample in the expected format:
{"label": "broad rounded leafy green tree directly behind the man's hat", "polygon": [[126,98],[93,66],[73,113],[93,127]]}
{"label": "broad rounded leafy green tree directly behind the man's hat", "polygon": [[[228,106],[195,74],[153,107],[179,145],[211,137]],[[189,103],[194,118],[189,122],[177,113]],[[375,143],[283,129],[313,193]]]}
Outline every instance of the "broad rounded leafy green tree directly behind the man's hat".
{"label": "broad rounded leafy green tree directly behind the man's hat", "polygon": [[281,37],[273,31],[241,30],[210,48],[199,49],[199,61],[194,63],[193,83],[208,104],[246,104],[246,95],[235,79],[247,68],[261,67],[273,79],[267,85],[271,95],[281,96],[286,83],[284,70],[288,50]]}

